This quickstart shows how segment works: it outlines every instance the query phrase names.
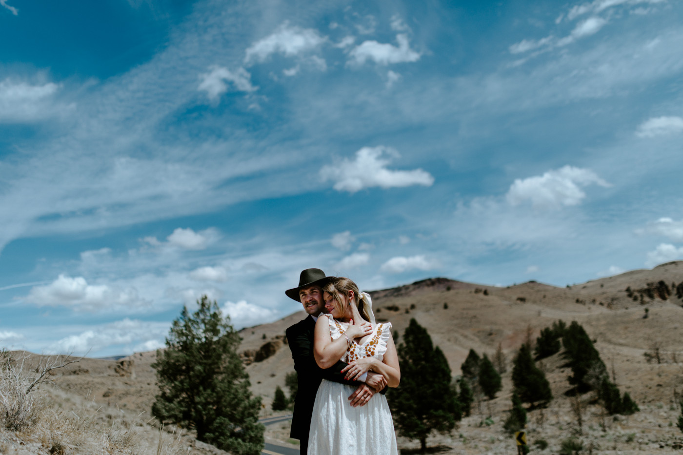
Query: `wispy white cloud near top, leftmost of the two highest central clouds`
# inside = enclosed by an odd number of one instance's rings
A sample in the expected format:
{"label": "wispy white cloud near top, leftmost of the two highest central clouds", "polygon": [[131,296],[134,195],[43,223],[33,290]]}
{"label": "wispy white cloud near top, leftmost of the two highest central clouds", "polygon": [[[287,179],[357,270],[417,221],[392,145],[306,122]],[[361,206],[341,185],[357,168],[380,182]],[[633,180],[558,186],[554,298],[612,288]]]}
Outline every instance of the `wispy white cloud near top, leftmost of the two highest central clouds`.
{"label": "wispy white cloud near top, leftmost of the two highest central clouds", "polygon": [[249,46],[245,55],[245,63],[265,61],[275,53],[293,57],[318,48],[326,40],[327,38],[321,36],[317,30],[291,27],[288,22],[285,22],[272,34]]}

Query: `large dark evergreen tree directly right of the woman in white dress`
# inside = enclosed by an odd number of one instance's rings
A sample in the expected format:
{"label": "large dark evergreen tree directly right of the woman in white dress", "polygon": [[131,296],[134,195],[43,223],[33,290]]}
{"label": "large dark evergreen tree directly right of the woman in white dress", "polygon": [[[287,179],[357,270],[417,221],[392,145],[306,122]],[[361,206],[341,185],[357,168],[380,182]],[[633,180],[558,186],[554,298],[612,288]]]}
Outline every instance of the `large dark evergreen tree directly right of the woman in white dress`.
{"label": "large dark evergreen tree directly right of the woman in white dress", "polygon": [[[397,348],[401,386],[389,389],[388,399],[400,435],[420,441],[426,450],[432,430],[450,432],[462,417],[451,369],[440,348],[415,319],[410,320]],[[428,383],[426,383],[428,378]]]}

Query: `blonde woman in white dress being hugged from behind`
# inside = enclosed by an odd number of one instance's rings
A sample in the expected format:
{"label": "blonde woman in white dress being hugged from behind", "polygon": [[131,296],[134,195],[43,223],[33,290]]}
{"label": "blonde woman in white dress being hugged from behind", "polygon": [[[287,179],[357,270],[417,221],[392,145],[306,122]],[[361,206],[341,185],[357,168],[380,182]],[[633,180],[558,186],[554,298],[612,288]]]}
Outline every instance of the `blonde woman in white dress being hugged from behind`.
{"label": "blonde woman in white dress being hugged from behind", "polygon": [[[356,380],[372,371],[389,387],[398,387],[401,374],[391,323],[374,323],[370,295],[360,294],[348,278],[333,278],[322,290],[329,314],[320,315],[313,334],[318,366],[329,368],[342,359],[349,363],[342,370],[346,378]],[[374,394],[365,406],[352,407],[348,396],[354,389],[322,380],[313,405],[309,455],[398,454],[387,398]]]}

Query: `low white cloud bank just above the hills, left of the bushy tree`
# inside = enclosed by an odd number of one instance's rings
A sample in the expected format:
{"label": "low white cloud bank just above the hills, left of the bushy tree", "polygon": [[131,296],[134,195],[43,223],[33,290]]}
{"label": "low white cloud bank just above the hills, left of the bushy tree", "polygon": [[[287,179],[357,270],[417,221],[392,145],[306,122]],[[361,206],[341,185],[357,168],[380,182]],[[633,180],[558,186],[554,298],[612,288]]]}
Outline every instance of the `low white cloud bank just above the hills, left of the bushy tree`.
{"label": "low white cloud bank just above the hills, left of the bushy tree", "polygon": [[[47,353],[94,355],[104,348],[120,349],[116,354],[128,355],[142,350],[154,350],[164,345],[169,322],[148,322],[124,318],[74,335],[61,338],[47,348]],[[111,354],[111,353],[110,353]]]}

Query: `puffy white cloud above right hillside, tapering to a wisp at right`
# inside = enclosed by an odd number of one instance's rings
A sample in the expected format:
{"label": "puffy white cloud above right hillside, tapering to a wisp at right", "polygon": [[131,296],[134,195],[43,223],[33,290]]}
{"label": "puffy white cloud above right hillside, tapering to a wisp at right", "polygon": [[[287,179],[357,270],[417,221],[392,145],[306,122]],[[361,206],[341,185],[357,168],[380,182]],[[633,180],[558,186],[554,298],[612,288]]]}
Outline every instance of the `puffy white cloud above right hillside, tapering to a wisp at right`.
{"label": "puffy white cloud above right hillside, tapering to a wisp at right", "polygon": [[531,201],[535,208],[575,206],[586,196],[581,187],[589,184],[609,187],[607,182],[590,169],[564,166],[547,171],[542,176],[516,179],[505,197],[513,206],[526,201]]}

